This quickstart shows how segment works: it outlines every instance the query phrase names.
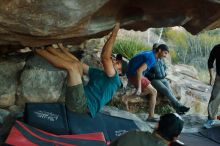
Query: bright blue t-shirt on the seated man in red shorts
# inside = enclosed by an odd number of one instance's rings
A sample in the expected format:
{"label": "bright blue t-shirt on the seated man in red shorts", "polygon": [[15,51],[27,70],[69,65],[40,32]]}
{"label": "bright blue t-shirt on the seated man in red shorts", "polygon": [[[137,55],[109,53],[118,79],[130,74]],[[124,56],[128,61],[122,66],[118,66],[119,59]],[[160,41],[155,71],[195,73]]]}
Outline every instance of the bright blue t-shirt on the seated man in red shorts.
{"label": "bright blue t-shirt on the seated man in red shorts", "polygon": [[156,63],[156,54],[154,51],[144,51],[131,58],[128,64],[127,76],[136,76],[137,69],[144,63],[147,64],[147,69],[143,72],[143,75]]}

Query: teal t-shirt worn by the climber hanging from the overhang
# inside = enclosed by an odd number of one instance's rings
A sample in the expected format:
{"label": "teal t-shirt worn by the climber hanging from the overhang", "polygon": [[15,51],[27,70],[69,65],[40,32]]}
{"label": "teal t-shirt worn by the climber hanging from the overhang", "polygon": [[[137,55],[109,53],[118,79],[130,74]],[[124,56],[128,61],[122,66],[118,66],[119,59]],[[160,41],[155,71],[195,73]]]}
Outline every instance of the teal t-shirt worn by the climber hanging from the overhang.
{"label": "teal t-shirt worn by the climber hanging from the overhang", "polygon": [[113,77],[108,77],[100,69],[89,68],[89,82],[84,90],[92,117],[112,99],[120,86],[121,80],[117,72]]}

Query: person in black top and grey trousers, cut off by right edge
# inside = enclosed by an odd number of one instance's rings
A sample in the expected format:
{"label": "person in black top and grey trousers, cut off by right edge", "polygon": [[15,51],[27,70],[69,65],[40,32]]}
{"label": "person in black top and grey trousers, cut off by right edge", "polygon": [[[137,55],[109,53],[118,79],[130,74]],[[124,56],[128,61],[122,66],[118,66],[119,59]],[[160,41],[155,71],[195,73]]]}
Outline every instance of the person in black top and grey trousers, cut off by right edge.
{"label": "person in black top and grey trousers, cut off by right edge", "polygon": [[213,85],[211,97],[208,105],[208,120],[204,124],[205,128],[211,128],[217,121],[218,107],[220,105],[220,44],[216,45],[210,52],[208,59],[208,69],[210,75],[210,85],[213,82],[213,64],[216,63],[216,77]]}

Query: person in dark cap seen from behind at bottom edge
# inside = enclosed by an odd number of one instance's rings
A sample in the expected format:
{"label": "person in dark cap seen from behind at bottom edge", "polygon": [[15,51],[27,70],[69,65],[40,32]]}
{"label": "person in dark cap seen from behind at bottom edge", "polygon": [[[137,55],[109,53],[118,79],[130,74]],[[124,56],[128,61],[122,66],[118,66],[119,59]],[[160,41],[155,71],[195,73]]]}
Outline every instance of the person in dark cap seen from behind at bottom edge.
{"label": "person in dark cap seen from behind at bottom edge", "polygon": [[153,133],[129,131],[113,141],[110,146],[168,146],[175,142],[183,129],[183,120],[176,113],[160,117]]}

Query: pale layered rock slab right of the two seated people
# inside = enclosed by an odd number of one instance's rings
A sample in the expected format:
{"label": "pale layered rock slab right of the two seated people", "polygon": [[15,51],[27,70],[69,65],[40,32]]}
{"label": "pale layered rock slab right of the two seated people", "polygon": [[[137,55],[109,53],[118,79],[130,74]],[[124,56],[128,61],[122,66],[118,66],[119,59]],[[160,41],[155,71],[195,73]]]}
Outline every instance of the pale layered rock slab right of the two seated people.
{"label": "pale layered rock slab right of the two seated people", "polygon": [[180,102],[191,107],[189,113],[207,114],[212,87],[198,80],[195,68],[187,65],[175,65],[167,78]]}

